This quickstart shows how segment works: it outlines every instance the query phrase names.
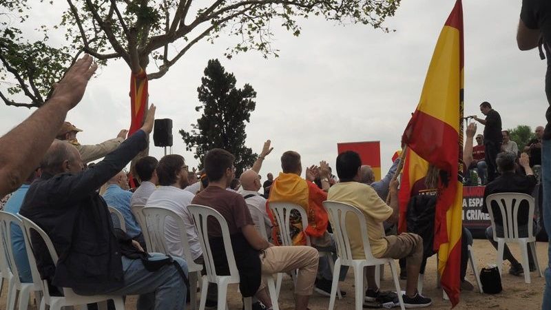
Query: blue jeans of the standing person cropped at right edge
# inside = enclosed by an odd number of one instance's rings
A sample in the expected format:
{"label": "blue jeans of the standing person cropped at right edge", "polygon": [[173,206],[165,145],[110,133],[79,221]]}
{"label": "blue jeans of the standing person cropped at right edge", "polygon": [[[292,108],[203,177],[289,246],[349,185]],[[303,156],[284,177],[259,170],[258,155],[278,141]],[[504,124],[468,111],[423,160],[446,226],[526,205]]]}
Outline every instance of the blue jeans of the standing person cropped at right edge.
{"label": "blue jeans of the standing person cropped at right edge", "polygon": [[[545,232],[551,236],[551,140],[541,141],[541,183],[543,183],[543,223]],[[551,238],[549,241],[551,242]],[[548,259],[541,309],[551,309],[551,247],[549,245]]]}

